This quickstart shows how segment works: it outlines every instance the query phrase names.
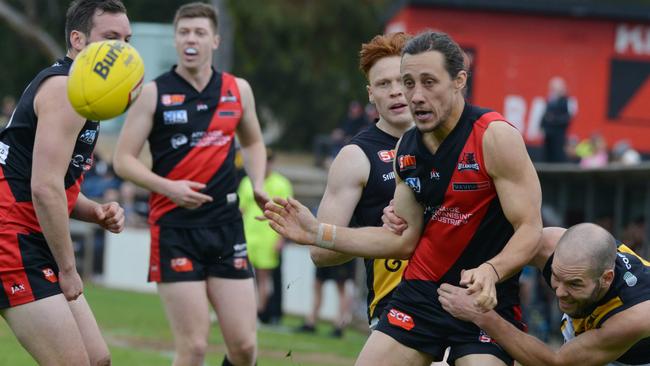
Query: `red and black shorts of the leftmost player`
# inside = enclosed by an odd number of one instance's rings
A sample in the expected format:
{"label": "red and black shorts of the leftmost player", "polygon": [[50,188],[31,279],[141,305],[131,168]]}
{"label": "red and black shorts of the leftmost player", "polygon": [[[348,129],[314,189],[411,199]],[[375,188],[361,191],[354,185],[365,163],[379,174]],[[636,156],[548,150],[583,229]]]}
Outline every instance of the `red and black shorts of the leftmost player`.
{"label": "red and black shorts of the leftmost player", "polygon": [[58,273],[42,233],[0,230],[0,309],[60,294]]}

